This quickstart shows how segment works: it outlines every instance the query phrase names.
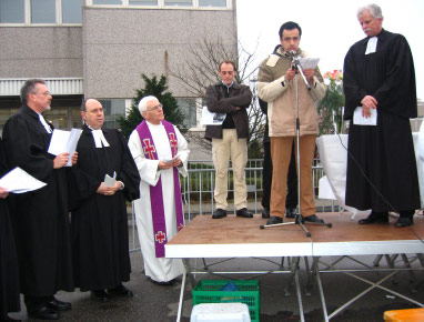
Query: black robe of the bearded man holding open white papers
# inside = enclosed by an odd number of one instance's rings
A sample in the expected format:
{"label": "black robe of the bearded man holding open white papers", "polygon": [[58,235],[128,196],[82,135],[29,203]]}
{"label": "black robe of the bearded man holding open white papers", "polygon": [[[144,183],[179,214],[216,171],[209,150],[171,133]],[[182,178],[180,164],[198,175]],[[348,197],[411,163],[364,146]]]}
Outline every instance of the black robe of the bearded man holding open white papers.
{"label": "black robe of the bearded man holding open white papers", "polygon": [[67,170],[53,169],[48,148],[51,134],[38,113],[23,105],[6,123],[3,142],[9,165],[20,167],[46,187],[8,197],[18,250],[20,291],[51,296],[72,291]]}

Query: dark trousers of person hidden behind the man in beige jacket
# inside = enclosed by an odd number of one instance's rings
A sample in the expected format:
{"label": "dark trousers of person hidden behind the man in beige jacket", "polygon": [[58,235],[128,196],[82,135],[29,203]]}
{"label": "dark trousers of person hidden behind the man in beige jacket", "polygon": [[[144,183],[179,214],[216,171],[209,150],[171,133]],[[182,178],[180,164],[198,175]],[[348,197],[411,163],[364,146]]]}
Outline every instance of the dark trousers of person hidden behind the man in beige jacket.
{"label": "dark trousers of person hidden behind the man in beige jacket", "polygon": [[[296,172],[296,158],[294,155],[294,142],[292,145],[292,158],[289,164],[287,173],[287,197],[285,200],[285,208],[297,207],[297,172]],[[271,143],[265,142],[263,148],[263,171],[262,171],[262,207],[270,210],[271,185],[272,185],[272,159],[271,159]]]}

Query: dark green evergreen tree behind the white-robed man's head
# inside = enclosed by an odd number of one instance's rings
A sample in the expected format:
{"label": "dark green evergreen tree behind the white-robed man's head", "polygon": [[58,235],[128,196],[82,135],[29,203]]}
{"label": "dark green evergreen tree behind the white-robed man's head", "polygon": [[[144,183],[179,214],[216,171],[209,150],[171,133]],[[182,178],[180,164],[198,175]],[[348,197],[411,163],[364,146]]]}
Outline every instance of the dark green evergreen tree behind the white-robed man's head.
{"label": "dark green evergreen tree behind the white-robed man's head", "polygon": [[118,123],[120,124],[123,135],[129,138],[135,127],[143,120],[139,111],[139,102],[147,95],[157,97],[163,105],[163,113],[165,114],[166,121],[176,125],[180,131],[185,132],[186,129],[183,125],[183,114],[178,107],[175,98],[171,92],[166,91],[166,78],[161,76],[158,80],[157,76],[153,74],[152,78],[149,78],[144,73],[141,74],[141,78],[144,81],[144,88],[135,90],[135,97],[133,98],[128,117],[118,118]]}

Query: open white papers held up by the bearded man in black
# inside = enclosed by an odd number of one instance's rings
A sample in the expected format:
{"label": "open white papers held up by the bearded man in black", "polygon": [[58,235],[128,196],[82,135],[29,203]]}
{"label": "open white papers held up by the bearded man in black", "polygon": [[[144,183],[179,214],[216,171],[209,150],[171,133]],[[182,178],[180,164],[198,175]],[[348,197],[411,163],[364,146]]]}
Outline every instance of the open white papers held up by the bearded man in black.
{"label": "open white papers held up by the bearded man in black", "polygon": [[48,152],[53,155],[59,155],[63,152],[69,152],[69,160],[67,163],[67,167],[72,165],[72,154],[75,152],[78,140],[80,139],[80,135],[82,133],[82,130],[80,129],[72,129],[71,131],[64,131],[64,130],[53,130],[53,133],[51,134],[50,145]]}

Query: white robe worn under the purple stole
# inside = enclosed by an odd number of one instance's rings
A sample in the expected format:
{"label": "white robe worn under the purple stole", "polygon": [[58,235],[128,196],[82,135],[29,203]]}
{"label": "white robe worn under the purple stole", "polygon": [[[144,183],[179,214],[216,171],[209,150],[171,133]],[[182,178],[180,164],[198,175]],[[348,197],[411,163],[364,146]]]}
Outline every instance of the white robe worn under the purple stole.
{"label": "white robe worn under the purple stole", "polygon": [[[154,125],[148,122],[157,149],[159,160],[171,160],[172,152],[166,131],[162,124]],[[180,131],[174,127],[178,139],[178,153],[183,167],[178,168],[185,177],[189,159],[188,143]],[[168,282],[184,272],[184,266],[180,259],[157,258],[154,251],[152,208],[150,203],[150,185],[155,185],[159,177],[162,181],[163,208],[165,212],[166,235],[170,241],[178,232],[175,214],[175,195],[173,170],[158,171],[159,160],[145,159],[141,147],[140,137],[134,130],[128,143],[137,168],[140,173],[140,199],[134,201],[137,229],[139,231],[141,253],[144,260],[145,275],[158,282]]]}

